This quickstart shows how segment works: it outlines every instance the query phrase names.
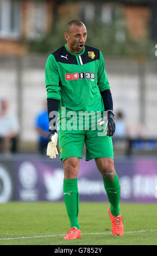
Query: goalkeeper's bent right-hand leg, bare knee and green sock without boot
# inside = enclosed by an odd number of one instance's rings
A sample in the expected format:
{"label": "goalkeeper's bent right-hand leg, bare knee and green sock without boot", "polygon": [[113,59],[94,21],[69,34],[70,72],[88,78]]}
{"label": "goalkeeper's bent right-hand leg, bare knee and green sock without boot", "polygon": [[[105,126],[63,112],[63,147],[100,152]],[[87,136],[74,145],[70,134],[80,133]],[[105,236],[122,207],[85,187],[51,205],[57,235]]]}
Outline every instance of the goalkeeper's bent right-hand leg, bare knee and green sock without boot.
{"label": "goalkeeper's bent right-hand leg, bare knee and green sock without boot", "polygon": [[114,160],[108,157],[100,157],[95,161],[99,172],[103,176],[105,191],[111,204],[111,214],[117,216],[120,214],[120,181],[115,172]]}

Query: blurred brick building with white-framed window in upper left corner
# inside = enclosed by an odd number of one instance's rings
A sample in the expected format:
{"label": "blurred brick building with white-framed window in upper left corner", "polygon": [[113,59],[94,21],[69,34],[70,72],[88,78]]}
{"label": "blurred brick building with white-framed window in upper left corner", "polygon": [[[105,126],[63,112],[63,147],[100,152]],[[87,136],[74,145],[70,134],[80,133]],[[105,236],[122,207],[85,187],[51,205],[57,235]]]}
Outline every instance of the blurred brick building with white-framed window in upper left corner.
{"label": "blurred brick building with white-framed window in upper left corner", "polygon": [[25,54],[26,40],[43,38],[52,25],[53,3],[0,0],[0,54]]}

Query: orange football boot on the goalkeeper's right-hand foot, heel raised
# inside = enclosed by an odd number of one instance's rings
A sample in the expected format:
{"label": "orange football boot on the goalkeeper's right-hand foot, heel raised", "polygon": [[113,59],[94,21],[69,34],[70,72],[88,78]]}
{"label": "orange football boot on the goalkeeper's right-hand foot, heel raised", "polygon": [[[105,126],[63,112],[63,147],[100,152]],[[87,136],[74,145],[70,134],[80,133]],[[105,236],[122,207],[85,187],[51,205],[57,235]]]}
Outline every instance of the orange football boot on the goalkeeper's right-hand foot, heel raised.
{"label": "orange football boot on the goalkeeper's right-hand foot, heel raised", "polygon": [[118,216],[113,216],[111,214],[111,211],[110,211],[110,207],[109,207],[109,216],[111,218],[111,222],[112,222],[112,234],[113,235],[123,235],[123,218],[121,216],[121,213],[118,214]]}

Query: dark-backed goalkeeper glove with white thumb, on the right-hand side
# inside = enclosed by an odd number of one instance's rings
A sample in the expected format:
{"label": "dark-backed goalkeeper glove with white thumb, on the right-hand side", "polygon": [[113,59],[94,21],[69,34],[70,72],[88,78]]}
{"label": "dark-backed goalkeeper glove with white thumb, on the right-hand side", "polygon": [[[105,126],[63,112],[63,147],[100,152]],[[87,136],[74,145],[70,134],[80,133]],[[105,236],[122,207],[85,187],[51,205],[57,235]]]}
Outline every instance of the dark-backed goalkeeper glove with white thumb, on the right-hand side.
{"label": "dark-backed goalkeeper glove with white thumb, on the right-hand side", "polygon": [[112,110],[108,110],[106,112],[108,114],[107,120],[106,120],[106,117],[104,116],[103,118],[98,120],[98,124],[103,125],[106,122],[106,128],[105,128],[106,135],[111,137],[114,135],[116,130],[115,115]]}

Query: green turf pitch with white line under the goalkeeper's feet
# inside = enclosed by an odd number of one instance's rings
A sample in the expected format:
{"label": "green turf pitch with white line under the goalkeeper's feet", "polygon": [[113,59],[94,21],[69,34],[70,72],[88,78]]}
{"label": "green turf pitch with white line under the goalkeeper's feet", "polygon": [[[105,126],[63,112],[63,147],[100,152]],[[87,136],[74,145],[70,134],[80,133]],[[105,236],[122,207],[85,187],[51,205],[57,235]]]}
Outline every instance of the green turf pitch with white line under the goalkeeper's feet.
{"label": "green turf pitch with white line under the goalkeeper's feet", "polygon": [[[0,204],[0,239],[27,237],[0,240],[0,245],[157,245],[157,205],[121,203],[120,206],[124,221],[123,236],[113,236],[111,233],[108,203],[81,202],[79,224],[82,237],[64,240],[63,235],[70,228],[64,203]],[[141,230],[145,232],[140,232]]]}

